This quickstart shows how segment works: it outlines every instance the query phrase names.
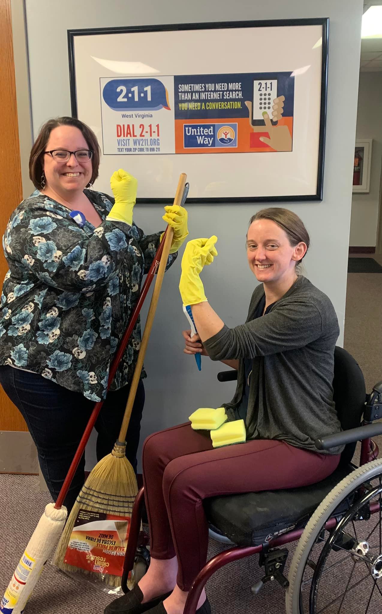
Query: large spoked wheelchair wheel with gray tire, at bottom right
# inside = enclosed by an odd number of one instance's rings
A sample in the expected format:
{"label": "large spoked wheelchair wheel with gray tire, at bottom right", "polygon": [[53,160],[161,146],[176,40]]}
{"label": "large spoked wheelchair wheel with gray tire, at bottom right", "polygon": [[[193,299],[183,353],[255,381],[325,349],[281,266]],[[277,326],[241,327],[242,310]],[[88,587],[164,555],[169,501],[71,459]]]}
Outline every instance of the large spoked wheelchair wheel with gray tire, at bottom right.
{"label": "large spoked wheelchair wheel with gray tire, at bottom right", "polygon": [[[330,518],[338,522],[325,529]],[[288,580],[287,614],[382,611],[382,459],[325,497],[300,537]]]}

